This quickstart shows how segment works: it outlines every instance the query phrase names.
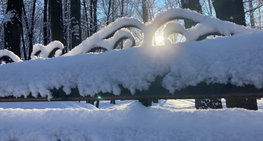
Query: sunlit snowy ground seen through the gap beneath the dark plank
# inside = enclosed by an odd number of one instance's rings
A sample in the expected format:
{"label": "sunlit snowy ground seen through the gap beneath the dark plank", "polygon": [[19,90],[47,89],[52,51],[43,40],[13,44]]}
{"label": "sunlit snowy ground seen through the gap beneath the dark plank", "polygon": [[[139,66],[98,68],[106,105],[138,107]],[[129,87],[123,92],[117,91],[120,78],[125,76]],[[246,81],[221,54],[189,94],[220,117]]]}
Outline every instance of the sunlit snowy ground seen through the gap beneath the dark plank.
{"label": "sunlit snowy ground seen through the gap beneath the dark plank", "polygon": [[[99,109],[113,109],[113,108],[125,108],[136,100],[116,100],[116,104],[110,104],[110,101],[100,101]],[[225,100],[222,99],[223,108],[226,108]],[[45,108],[86,108],[97,109],[94,106],[87,104],[85,101],[79,102],[0,102],[0,108],[21,108],[21,109],[45,109]],[[263,100],[257,100],[258,110],[263,111]],[[194,99],[177,99],[177,100],[159,100],[159,103],[152,103],[152,106],[159,106],[169,108],[176,111],[195,111]]]}

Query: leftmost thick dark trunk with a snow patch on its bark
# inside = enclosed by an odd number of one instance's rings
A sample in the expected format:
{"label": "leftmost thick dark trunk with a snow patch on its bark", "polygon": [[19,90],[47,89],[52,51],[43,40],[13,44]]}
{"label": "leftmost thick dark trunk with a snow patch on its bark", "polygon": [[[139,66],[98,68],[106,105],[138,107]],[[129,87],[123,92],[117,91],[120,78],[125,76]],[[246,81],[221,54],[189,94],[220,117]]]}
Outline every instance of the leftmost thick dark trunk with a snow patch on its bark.
{"label": "leftmost thick dark trunk with a snow patch on its bark", "polygon": [[[15,55],[21,57],[20,39],[21,39],[21,16],[22,0],[8,0],[6,14],[4,15],[4,49],[12,51]],[[4,59],[6,63],[9,59]]]}

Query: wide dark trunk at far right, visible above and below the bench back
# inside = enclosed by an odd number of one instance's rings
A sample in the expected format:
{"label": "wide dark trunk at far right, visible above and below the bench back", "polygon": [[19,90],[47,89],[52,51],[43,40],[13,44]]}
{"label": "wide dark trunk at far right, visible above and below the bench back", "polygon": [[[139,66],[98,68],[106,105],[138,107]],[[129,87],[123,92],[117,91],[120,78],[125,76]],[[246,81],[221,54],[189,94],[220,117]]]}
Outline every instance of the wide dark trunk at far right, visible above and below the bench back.
{"label": "wide dark trunk at far right, visible above and below the bench back", "polygon": [[[214,6],[216,18],[246,26],[243,0],[214,0],[212,4]],[[258,109],[256,98],[226,98],[225,100],[226,107],[228,108]]]}

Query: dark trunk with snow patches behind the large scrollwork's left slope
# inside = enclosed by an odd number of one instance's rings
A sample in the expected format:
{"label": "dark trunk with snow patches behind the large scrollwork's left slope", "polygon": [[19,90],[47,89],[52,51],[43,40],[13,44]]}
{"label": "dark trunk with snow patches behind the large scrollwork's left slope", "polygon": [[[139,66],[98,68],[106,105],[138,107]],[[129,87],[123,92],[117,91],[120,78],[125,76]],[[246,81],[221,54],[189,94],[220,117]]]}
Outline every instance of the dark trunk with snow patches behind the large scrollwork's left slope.
{"label": "dark trunk with snow patches behind the large scrollwork's left slope", "polygon": [[82,42],[80,0],[70,0],[71,12],[71,49]]}

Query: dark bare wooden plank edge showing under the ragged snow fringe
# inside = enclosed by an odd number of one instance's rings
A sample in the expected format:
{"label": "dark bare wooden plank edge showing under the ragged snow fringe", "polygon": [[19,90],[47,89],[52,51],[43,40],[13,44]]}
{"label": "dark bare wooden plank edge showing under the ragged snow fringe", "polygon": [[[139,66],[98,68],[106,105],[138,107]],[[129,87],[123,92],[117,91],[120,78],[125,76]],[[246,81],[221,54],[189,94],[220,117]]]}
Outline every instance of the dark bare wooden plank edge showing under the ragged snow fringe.
{"label": "dark bare wooden plank edge showing under the ragged snow fringe", "polygon": [[[237,87],[231,84],[209,84],[201,82],[197,86],[188,86],[180,91],[170,94],[162,87],[163,77],[157,77],[147,91],[136,91],[131,95],[128,89],[123,88],[120,95],[112,93],[98,93],[95,97],[82,97],[77,88],[71,89],[70,95],[66,95],[60,88],[53,89],[53,98],[50,101],[90,101],[90,100],[152,100],[152,99],[195,99],[195,98],[256,98],[263,97],[263,88],[256,89],[253,85]],[[98,98],[100,97],[100,98]],[[0,97],[0,102],[26,102],[26,101],[48,101],[46,97]]]}

